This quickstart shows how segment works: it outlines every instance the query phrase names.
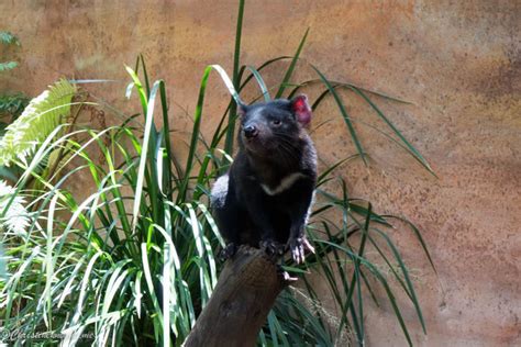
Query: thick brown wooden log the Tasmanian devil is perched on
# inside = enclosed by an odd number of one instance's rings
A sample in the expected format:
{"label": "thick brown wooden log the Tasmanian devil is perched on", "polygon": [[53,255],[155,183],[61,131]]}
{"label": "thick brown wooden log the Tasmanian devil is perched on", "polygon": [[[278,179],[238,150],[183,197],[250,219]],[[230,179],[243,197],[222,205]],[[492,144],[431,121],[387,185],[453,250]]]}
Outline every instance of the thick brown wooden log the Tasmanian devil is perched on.
{"label": "thick brown wooden log the Tasmanian devil is perched on", "polygon": [[225,264],[184,346],[255,346],[275,299],[288,283],[275,261],[260,249],[241,246]]}

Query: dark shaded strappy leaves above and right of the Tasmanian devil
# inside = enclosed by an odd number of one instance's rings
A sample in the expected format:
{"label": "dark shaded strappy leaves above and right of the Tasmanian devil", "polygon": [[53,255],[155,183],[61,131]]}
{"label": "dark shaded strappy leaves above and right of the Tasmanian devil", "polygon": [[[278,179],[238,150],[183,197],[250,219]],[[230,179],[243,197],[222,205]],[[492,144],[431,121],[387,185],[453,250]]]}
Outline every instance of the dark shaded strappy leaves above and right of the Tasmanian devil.
{"label": "dark shaded strappy leaves above and right of the Tasmanian devil", "polygon": [[[364,150],[364,147],[358,138],[358,135],[353,126],[355,120],[347,113],[344,105],[344,101],[340,97],[337,89],[348,89],[355,92],[356,96],[362,98],[377,114],[377,116],[390,128],[391,134],[386,133],[385,131],[376,128],[383,136],[387,137],[389,141],[397,144],[399,147],[403,148],[409,153],[421,166],[423,166],[429,172],[435,176],[434,171],[430,167],[429,163],[423,158],[423,156],[404,138],[400,131],[392,124],[392,122],[385,115],[385,113],[378,108],[378,105],[372,100],[369,96],[376,96],[379,98],[385,98],[396,102],[403,102],[401,100],[375,93],[369,90],[364,90],[355,85],[342,82],[342,81],[331,81],[329,80],[323,72],[317,67],[311,65],[311,68],[317,72],[318,78],[312,80],[307,80],[303,82],[291,81],[293,70],[297,67],[297,64],[300,58],[300,54],[304,46],[306,40],[308,37],[309,30],[304,33],[300,44],[292,57],[280,56],[274,59],[270,59],[262,64],[258,68],[252,66],[240,66],[240,53],[241,53],[241,35],[242,35],[242,22],[244,14],[244,0],[240,1],[239,5],[239,15],[237,15],[237,29],[235,35],[235,55],[234,55],[234,66],[233,66],[233,87],[234,89],[241,91],[243,87],[250,82],[251,79],[255,79],[260,89],[260,96],[257,98],[264,97],[265,100],[270,100],[270,90],[275,89],[275,98],[280,98],[287,96],[287,98],[292,97],[300,89],[314,83],[321,83],[325,88],[323,92],[314,100],[312,104],[313,111],[320,105],[323,99],[328,96],[332,96],[337,105],[339,113],[343,117],[348,133],[352,137],[352,141],[355,145],[357,154],[353,157],[359,157],[367,164],[367,153]],[[289,66],[286,70],[286,74],[282,77],[280,83],[267,88],[264,82],[260,70],[268,67],[271,64],[278,63],[280,60],[290,60]],[[251,75],[247,78],[244,78],[244,72],[246,70],[251,71]],[[230,89],[230,87],[229,87]],[[289,90],[289,91],[288,91]],[[234,94],[231,90],[232,96]],[[236,99],[236,96],[234,96]],[[235,100],[236,101],[236,100]],[[226,113],[223,115],[222,121],[218,127],[218,131],[212,137],[210,148],[218,144],[222,137],[224,137],[224,150],[225,153],[232,153],[233,150],[233,137],[234,137],[234,122],[236,119],[236,108],[234,100],[231,101],[226,109]],[[221,126],[224,124],[224,120],[228,119],[228,126],[225,132],[221,132]],[[361,122],[362,125],[368,125]],[[193,144],[193,143],[192,143]],[[219,167],[228,167],[228,158],[224,156],[223,160],[217,159],[214,156],[207,156],[203,160],[202,166],[206,167],[210,160],[213,160],[214,167],[218,168],[218,171],[222,172]],[[364,202],[359,199],[351,199],[347,194],[347,189],[344,180],[340,178],[340,189],[342,194],[340,197],[328,193],[321,187],[333,179],[331,176],[333,171],[343,163],[336,163],[330,168],[326,168],[324,174],[321,176],[321,179],[318,183],[318,193],[323,198],[323,201],[318,205],[318,210],[313,212],[314,223],[310,225],[310,238],[313,240],[318,248],[318,256],[311,257],[307,261],[307,267],[320,269],[322,275],[326,279],[328,287],[333,294],[333,298],[336,302],[339,309],[340,318],[335,323],[336,329],[330,331],[330,326],[324,321],[324,313],[320,314],[319,309],[315,309],[317,315],[310,315],[309,307],[302,305],[301,301],[295,300],[289,293],[281,295],[279,298],[278,304],[275,307],[274,312],[268,316],[268,324],[266,329],[260,333],[260,342],[263,345],[290,345],[287,339],[287,335],[291,335],[296,340],[299,340],[300,344],[320,344],[320,345],[332,345],[341,336],[345,335],[343,329],[346,329],[352,338],[353,343],[364,345],[365,343],[365,327],[363,320],[363,310],[364,310],[364,296],[362,288],[365,287],[370,293],[370,298],[375,300],[378,304],[376,296],[374,295],[374,290],[372,289],[370,281],[368,276],[373,276],[376,279],[376,282],[383,286],[387,299],[391,303],[396,317],[402,327],[403,335],[409,343],[412,345],[409,332],[407,329],[406,323],[401,315],[401,311],[395,299],[395,291],[392,290],[388,279],[379,270],[378,266],[369,261],[365,257],[366,244],[372,245],[377,254],[380,256],[380,261],[389,268],[392,279],[399,283],[399,288],[404,291],[407,296],[411,300],[418,318],[421,323],[423,332],[425,333],[425,324],[421,313],[421,307],[417,298],[417,294],[413,289],[412,281],[409,277],[407,267],[403,264],[403,259],[400,256],[397,247],[392,243],[390,236],[383,230],[385,227],[391,226],[391,220],[399,220],[408,224],[413,232],[413,235],[420,240],[422,248],[429,258],[429,261],[435,270],[430,254],[426,249],[425,243],[422,239],[420,231],[408,220],[395,215],[378,215],[372,211],[370,203]],[[335,210],[337,217],[331,219],[325,212]],[[339,221],[342,223],[339,225]],[[353,243],[352,239],[361,234],[361,242]],[[379,242],[384,242],[385,248],[390,250],[391,257],[388,256],[386,249],[380,245]],[[356,246],[355,246],[356,245]],[[398,264],[398,267],[393,265]],[[352,269],[348,269],[346,264],[352,265]],[[290,269],[290,268],[287,268]],[[298,272],[302,272],[302,269],[293,269]],[[345,272],[351,271],[351,276]],[[340,275],[340,279],[335,276]],[[314,306],[321,307],[321,300],[317,295],[314,289],[309,286],[309,282],[303,277],[307,289],[307,298]],[[289,301],[289,303],[288,303]],[[355,304],[357,303],[357,304]],[[286,307],[286,310],[284,310]],[[291,307],[291,310],[288,310]],[[278,314],[277,314],[278,313]],[[314,318],[313,318],[314,317]],[[302,326],[310,326],[309,332],[302,332]],[[300,339],[299,339],[300,338]],[[295,340],[291,340],[291,344],[295,344]],[[297,344],[299,345],[299,344]]]}

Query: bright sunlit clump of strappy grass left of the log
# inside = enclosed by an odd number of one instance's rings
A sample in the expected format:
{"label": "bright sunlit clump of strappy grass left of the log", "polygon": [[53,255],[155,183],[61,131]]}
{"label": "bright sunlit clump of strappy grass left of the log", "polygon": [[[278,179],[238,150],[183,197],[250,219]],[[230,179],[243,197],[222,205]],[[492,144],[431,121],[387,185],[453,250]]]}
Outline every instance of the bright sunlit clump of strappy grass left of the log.
{"label": "bright sunlit clump of strappy grass left of the log", "polygon": [[[42,182],[41,198],[26,206],[38,206],[30,237],[21,247],[7,247],[13,257],[9,266],[16,270],[0,293],[5,329],[74,333],[65,344],[92,331],[100,344],[115,339],[168,345],[171,324],[179,345],[211,294],[217,264],[210,243],[219,234],[206,204],[186,198],[192,177],[175,176],[171,170],[164,83],[156,82],[148,93],[130,72],[146,115],[143,142],[141,130],[130,126],[78,130],[75,133],[89,135],[86,143],[64,135],[46,141],[33,158],[31,166],[56,148],[74,146],[69,160],[82,164],[55,183]],[[153,123],[156,97],[165,115],[162,131]],[[110,139],[108,146],[104,137]],[[92,146],[103,154],[107,168],[90,158]],[[118,157],[123,158],[121,165]],[[185,172],[193,160],[195,155]],[[90,175],[98,189],[82,202],[63,188],[79,171]],[[32,175],[25,172],[19,191]],[[202,182],[208,187],[209,177]],[[66,222],[55,217],[63,210],[70,212]],[[4,243],[19,239],[8,232]],[[64,316],[64,312],[71,314]]]}

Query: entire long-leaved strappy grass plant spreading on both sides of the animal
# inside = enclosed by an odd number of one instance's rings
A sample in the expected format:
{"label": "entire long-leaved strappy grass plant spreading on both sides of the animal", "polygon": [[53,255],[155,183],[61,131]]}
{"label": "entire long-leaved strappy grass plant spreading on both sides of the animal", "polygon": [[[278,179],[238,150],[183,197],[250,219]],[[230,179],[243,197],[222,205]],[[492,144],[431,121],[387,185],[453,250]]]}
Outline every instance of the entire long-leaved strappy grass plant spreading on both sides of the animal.
{"label": "entire long-leaved strappy grass plant spreading on both sides of the animal", "polygon": [[[70,124],[59,124],[37,146],[9,194],[8,203],[14,203],[24,193],[36,198],[24,206],[30,221],[25,235],[9,228],[3,233],[10,273],[0,282],[4,331],[18,328],[25,336],[41,332],[65,334],[64,345],[77,344],[81,342],[81,334],[89,333],[99,345],[179,346],[184,342],[218,279],[220,265],[214,251],[223,242],[208,210],[208,194],[213,179],[230,164],[235,136],[234,100],[211,139],[200,133],[206,88],[212,70],[220,74],[234,99],[252,80],[258,82],[259,97],[269,99],[270,89],[259,71],[289,59],[281,83],[275,86],[275,96],[287,97],[306,85],[323,83],[324,91],[315,99],[313,109],[326,96],[333,96],[358,150],[353,158],[364,159],[367,154],[336,93],[337,88],[357,91],[396,134],[398,139],[395,141],[430,169],[369,99],[369,92],[329,81],[318,68],[314,68],[319,75],[317,80],[290,85],[307,33],[293,57],[276,58],[258,68],[240,66],[244,1],[240,3],[235,72],[230,80],[219,66],[204,70],[184,161],[171,152],[165,83],[159,80],[151,86],[142,58],[134,69],[128,68],[132,78],[128,90],[137,92],[143,122],[130,116],[122,125],[101,131],[75,124],[73,131],[66,133],[60,132]],[[246,70],[251,71],[247,77]],[[154,123],[156,108],[162,128]],[[225,150],[220,149],[222,143]],[[59,148],[71,153],[60,166],[74,163],[74,168],[63,177],[38,175],[34,170],[38,163]],[[92,153],[97,152],[101,153],[103,164],[93,158]],[[302,278],[303,288],[289,289],[279,296],[259,334],[262,345],[333,346],[346,335],[353,343],[363,345],[366,332],[363,292],[367,290],[378,302],[375,286],[384,289],[409,344],[412,344],[410,335],[395,299],[398,290],[412,302],[424,326],[408,269],[385,232],[396,217],[379,215],[373,212],[370,203],[348,197],[345,182],[335,177],[335,169],[345,161],[323,169],[319,178],[319,201],[308,230],[317,255],[308,257],[298,268],[286,264],[288,271]],[[67,190],[67,182],[78,177],[93,186],[84,200],[77,200]],[[36,192],[26,189],[31,179],[40,182]],[[340,191],[336,194],[325,184],[335,179],[339,184],[335,188],[340,188],[335,189]],[[4,206],[0,217],[5,213]],[[429,257],[420,232],[410,226]],[[369,247],[379,255],[378,261],[367,257]],[[389,276],[381,270],[383,266],[389,269]],[[309,281],[312,276],[325,278],[337,312],[324,309]],[[52,338],[41,340],[42,344],[53,342]],[[18,342],[24,343],[29,340]]]}

